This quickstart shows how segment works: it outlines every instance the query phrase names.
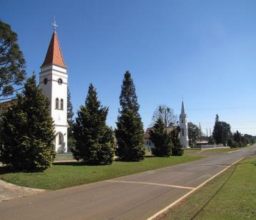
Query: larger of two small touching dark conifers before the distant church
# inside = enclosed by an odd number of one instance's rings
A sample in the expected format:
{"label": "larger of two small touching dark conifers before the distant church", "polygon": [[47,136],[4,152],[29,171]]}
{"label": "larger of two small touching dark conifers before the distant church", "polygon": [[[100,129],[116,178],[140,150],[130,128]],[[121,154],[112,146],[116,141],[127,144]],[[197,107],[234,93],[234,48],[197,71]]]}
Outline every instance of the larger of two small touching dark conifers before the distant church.
{"label": "larger of two small touching dark conifers before the distant church", "polygon": [[172,137],[167,132],[167,127],[162,118],[155,122],[152,130],[149,131],[149,138],[154,143],[152,154],[157,157],[169,157],[172,152]]}

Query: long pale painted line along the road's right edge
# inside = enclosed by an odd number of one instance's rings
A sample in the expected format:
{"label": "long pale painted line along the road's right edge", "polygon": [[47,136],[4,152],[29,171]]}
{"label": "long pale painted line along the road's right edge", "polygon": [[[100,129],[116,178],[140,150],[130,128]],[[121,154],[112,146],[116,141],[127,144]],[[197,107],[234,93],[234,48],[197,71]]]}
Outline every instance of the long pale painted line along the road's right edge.
{"label": "long pale painted line along the road's right edge", "polygon": [[190,192],[188,192],[187,194],[184,194],[183,197],[180,197],[179,199],[177,199],[176,201],[172,202],[172,204],[169,204],[169,206],[166,206],[164,209],[158,211],[156,214],[154,214],[153,216],[149,217],[147,220],[153,220],[156,219],[157,216],[159,216],[160,214],[163,214],[165,211],[167,211],[168,209],[170,209],[172,206],[176,205],[179,203],[179,201],[182,201],[183,199],[185,199],[186,197],[188,197],[190,194],[192,194],[193,192],[197,191],[197,189],[200,189],[202,186],[204,186],[205,184],[207,184],[207,182],[210,182],[212,179],[214,179],[215,177],[217,177],[219,174],[221,174],[222,172],[225,172],[225,170],[229,169],[230,167],[232,167],[234,164],[237,164],[237,162],[240,162],[241,159],[244,159],[245,157],[242,157],[240,159],[238,159],[237,161],[233,162],[230,166],[226,167],[225,169],[222,169],[222,171],[218,172],[217,174],[215,174],[214,176],[212,176],[210,179],[207,179],[205,182],[202,182],[202,184],[200,184],[199,186],[195,187],[195,189],[192,189]]}

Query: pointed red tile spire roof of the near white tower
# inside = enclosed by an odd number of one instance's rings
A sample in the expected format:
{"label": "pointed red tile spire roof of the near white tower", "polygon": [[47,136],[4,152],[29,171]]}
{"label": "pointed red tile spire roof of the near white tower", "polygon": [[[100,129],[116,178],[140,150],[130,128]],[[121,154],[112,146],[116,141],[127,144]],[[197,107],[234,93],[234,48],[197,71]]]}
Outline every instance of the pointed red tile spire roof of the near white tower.
{"label": "pointed red tile spire roof of the near white tower", "polygon": [[49,44],[49,48],[44,59],[44,63],[41,66],[46,66],[48,64],[55,64],[56,66],[67,68],[61,53],[59,39],[56,31],[54,31],[51,36],[51,42]]}

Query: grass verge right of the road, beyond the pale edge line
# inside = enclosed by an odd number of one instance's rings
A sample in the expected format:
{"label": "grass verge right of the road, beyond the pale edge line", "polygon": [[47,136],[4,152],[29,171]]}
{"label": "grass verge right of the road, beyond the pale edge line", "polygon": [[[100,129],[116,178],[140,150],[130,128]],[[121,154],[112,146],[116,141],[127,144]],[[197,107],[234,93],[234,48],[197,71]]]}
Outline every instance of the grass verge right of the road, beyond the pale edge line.
{"label": "grass verge right of the road, beyond the pale edge line", "polygon": [[170,209],[162,219],[256,219],[255,184],[256,159],[243,159],[236,168],[230,167]]}

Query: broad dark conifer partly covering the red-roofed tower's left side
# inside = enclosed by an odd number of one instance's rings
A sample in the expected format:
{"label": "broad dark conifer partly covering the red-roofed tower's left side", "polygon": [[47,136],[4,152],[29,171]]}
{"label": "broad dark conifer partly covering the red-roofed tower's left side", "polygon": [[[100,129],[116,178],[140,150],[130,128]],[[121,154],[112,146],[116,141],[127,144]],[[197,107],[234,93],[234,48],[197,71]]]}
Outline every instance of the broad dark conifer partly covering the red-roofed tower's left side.
{"label": "broad dark conifer partly covering the red-roofed tower's left side", "polygon": [[49,100],[36,86],[35,75],[26,80],[22,95],[17,97],[2,115],[0,160],[15,169],[42,171],[55,158]]}

